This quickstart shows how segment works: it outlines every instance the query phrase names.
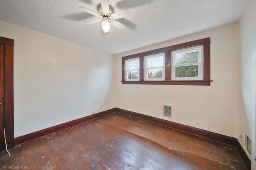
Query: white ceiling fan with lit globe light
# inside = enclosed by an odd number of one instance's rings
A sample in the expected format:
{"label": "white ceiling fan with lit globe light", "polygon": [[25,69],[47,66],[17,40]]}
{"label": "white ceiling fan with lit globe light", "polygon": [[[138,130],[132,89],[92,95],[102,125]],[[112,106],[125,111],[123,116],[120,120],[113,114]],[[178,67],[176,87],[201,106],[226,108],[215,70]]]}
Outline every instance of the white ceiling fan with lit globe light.
{"label": "white ceiling fan with lit globe light", "polygon": [[101,19],[87,21],[85,23],[95,23],[102,21],[101,27],[104,33],[110,32],[110,23],[119,29],[124,29],[126,26],[116,21],[116,19],[125,18],[129,16],[128,10],[114,12],[114,9],[112,8],[112,6],[109,5],[108,0],[100,0],[100,4],[98,5],[98,13],[88,10],[87,8],[84,8],[82,6],[80,6],[79,9],[94,16],[100,17]]}

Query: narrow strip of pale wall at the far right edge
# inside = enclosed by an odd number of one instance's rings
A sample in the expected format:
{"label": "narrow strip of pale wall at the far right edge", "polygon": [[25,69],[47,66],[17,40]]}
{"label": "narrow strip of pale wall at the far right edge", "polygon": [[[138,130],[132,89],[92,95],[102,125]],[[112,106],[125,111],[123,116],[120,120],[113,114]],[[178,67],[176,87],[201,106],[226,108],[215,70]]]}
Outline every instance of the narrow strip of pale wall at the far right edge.
{"label": "narrow strip of pale wall at the far right edge", "polygon": [[[252,140],[255,155],[256,98],[256,1],[252,0],[239,21],[238,132],[245,147],[245,135]],[[256,169],[252,161],[252,169]]]}

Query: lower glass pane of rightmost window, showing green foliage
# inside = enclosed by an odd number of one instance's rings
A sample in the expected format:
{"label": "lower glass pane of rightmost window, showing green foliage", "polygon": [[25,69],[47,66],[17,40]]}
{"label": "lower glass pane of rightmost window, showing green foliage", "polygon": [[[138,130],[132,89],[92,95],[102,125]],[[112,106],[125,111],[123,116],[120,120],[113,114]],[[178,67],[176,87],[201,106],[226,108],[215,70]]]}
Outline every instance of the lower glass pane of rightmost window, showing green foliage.
{"label": "lower glass pane of rightmost window, showing green foliage", "polygon": [[198,77],[198,65],[175,67],[175,77]]}

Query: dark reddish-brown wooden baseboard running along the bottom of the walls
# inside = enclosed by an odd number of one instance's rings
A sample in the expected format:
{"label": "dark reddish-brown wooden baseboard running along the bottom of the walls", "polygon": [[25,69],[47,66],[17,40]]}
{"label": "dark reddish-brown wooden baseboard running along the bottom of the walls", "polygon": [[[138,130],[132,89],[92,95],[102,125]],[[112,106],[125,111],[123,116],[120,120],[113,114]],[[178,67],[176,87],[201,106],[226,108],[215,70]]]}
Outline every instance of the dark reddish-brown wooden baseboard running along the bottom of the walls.
{"label": "dark reddish-brown wooden baseboard running along the bottom of the walls", "polygon": [[236,149],[238,150],[242,160],[244,161],[244,164],[245,164],[246,168],[248,170],[250,170],[250,168],[251,168],[250,158],[247,156],[246,152],[244,151],[243,147],[240,145],[239,141],[234,137],[221,135],[221,134],[206,131],[206,130],[203,130],[203,129],[198,129],[196,127],[191,127],[191,126],[183,125],[183,124],[180,124],[180,123],[175,123],[175,122],[172,122],[172,121],[152,117],[152,116],[149,116],[149,115],[143,115],[143,114],[140,114],[140,113],[136,113],[136,112],[132,112],[132,111],[124,110],[124,109],[119,109],[119,108],[109,109],[109,110],[106,110],[106,111],[102,111],[100,113],[96,113],[96,114],[93,114],[93,115],[82,117],[80,119],[76,119],[76,120],[73,120],[73,121],[62,123],[60,125],[49,127],[47,129],[42,129],[40,131],[36,131],[36,132],[29,133],[29,134],[26,134],[26,135],[23,135],[23,136],[20,136],[20,137],[16,137],[16,138],[14,138],[14,146],[18,146],[18,145],[21,145],[21,144],[24,144],[24,143],[28,143],[30,141],[34,141],[36,139],[40,139],[40,138],[45,137],[47,135],[51,135],[53,133],[63,131],[63,130],[68,129],[70,127],[74,127],[74,126],[80,125],[82,123],[86,123],[86,122],[91,121],[93,119],[97,119],[99,117],[102,117],[102,116],[105,116],[105,115],[108,115],[108,114],[114,113],[114,112],[118,112],[118,113],[121,113],[121,114],[136,117],[138,119],[142,119],[142,120],[152,122],[152,123],[164,126],[164,127],[175,129],[177,131],[182,131],[184,133],[188,133],[188,134],[191,134],[191,135],[202,137],[204,139],[210,139],[212,141],[216,141],[216,142],[220,142],[220,143],[224,143],[226,145],[236,147]]}

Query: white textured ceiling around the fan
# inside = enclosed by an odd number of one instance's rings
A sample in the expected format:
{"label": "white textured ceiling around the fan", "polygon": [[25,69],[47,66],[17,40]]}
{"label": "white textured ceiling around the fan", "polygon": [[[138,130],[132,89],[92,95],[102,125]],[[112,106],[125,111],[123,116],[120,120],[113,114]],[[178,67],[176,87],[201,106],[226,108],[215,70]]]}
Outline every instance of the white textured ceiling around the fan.
{"label": "white textured ceiling around the fan", "polygon": [[103,33],[97,12],[100,0],[0,0],[0,20],[46,33],[111,54],[238,22],[250,0],[109,0],[114,12],[128,9],[118,19],[124,30],[111,26]]}

